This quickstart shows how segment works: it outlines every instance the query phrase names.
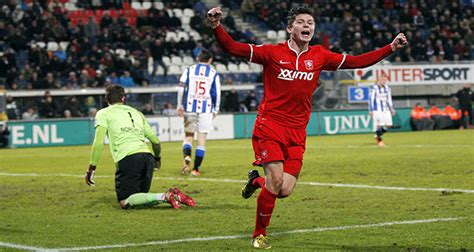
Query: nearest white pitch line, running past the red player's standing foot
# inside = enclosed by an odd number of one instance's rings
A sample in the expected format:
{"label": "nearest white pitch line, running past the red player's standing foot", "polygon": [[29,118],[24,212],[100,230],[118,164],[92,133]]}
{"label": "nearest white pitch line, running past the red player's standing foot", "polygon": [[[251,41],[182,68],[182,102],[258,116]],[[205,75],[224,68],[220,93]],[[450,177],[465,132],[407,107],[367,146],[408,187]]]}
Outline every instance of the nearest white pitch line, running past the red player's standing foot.
{"label": "nearest white pitch line, running past the red player's standing foot", "polygon": [[[466,218],[465,217],[449,217],[449,218],[436,218],[436,219],[425,219],[425,220],[391,221],[391,222],[365,224],[365,225],[296,229],[296,230],[290,230],[290,231],[284,231],[284,232],[270,233],[269,236],[281,236],[281,235],[296,234],[296,233],[316,233],[316,232],[349,230],[349,229],[358,229],[358,228],[386,227],[386,226],[394,226],[394,225],[413,225],[413,224],[420,224],[420,223],[457,221],[457,220],[462,220],[462,219],[466,219]],[[81,251],[81,250],[115,249],[115,248],[128,248],[128,247],[143,247],[143,246],[152,246],[152,245],[167,245],[167,244],[186,243],[186,242],[233,240],[233,239],[250,238],[250,237],[251,237],[250,235],[193,237],[193,238],[184,238],[184,239],[177,239],[177,240],[151,241],[151,242],[144,242],[144,243],[126,243],[126,244],[111,244],[111,245],[88,246],[88,247],[55,248],[55,249],[51,249],[51,251],[53,250],[54,251]]]}

